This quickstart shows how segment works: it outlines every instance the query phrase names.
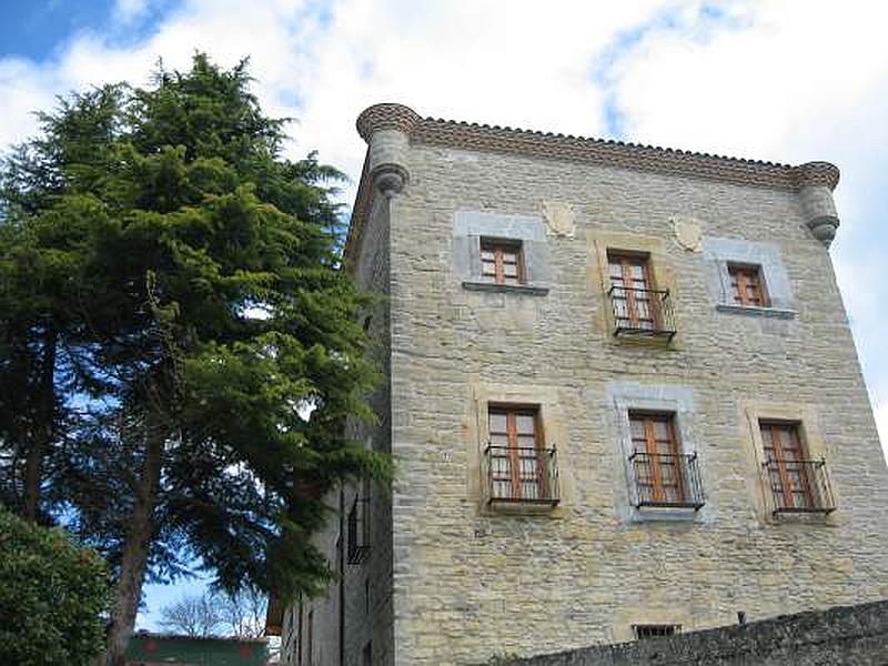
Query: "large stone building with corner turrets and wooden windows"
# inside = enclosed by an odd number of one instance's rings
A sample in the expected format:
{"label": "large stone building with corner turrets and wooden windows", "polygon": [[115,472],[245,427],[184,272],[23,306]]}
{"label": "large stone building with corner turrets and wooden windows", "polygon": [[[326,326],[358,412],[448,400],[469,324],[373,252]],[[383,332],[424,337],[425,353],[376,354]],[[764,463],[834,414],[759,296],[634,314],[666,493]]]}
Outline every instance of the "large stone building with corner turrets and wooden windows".
{"label": "large stone building with corner turrets and wooden windows", "polygon": [[827,252],[838,170],[364,111],[391,488],[289,664],[447,665],[888,597],[888,471]]}

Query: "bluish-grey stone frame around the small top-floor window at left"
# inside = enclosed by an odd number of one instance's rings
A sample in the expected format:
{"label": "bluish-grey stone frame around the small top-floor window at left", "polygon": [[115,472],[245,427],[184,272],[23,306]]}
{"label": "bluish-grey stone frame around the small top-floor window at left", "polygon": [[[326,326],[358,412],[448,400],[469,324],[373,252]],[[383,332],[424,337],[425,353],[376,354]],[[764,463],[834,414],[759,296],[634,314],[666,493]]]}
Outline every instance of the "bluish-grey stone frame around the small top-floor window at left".
{"label": "bluish-grey stone frame around the small top-floor window at left", "polygon": [[[482,241],[521,245],[523,282],[497,284],[482,274]],[[541,215],[457,211],[453,216],[453,271],[466,291],[545,296],[552,284],[546,225]]]}

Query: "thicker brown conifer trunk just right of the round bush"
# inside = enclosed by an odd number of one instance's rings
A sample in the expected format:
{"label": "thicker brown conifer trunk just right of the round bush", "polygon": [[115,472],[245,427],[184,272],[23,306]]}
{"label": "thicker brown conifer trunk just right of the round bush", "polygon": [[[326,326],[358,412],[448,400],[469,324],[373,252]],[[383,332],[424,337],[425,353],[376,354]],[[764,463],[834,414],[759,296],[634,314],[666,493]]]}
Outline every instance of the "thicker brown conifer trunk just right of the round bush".
{"label": "thicker brown conifer trunk just right of the round bush", "polygon": [[162,428],[152,433],[149,428],[144,466],[138,485],[135,505],[129,519],[130,532],[123,545],[120,563],[120,581],[114,595],[114,607],[111,613],[111,627],[108,633],[105,665],[122,664],[123,652],[135,625],[135,614],[142,594],[148,552],[154,533],[154,508],[158,503],[160,471],[163,461],[163,443],[165,436]]}

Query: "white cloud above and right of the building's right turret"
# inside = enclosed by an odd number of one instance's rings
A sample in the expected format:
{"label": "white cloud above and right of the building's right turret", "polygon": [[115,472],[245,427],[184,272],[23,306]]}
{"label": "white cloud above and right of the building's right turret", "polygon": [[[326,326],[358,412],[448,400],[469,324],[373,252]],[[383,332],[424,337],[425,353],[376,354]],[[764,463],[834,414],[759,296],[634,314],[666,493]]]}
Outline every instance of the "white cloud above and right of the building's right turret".
{"label": "white cloud above and right of the building's right turret", "polygon": [[[633,140],[842,171],[831,255],[888,444],[888,6],[857,0],[704,3],[655,21],[613,63]],[[809,285],[817,289],[817,285]]]}

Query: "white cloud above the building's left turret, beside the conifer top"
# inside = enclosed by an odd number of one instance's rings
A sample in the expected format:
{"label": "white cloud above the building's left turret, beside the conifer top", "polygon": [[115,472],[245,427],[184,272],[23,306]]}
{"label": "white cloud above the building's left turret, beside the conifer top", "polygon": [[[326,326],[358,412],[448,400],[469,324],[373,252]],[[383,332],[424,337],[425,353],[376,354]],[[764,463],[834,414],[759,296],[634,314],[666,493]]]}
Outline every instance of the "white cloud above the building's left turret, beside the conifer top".
{"label": "white cloud above the building's left turret, beside the conifer top", "polygon": [[423,115],[595,133],[595,53],[663,4],[345,2],[306,63],[297,144],[315,144],[357,174],[365,147],[354,120],[381,101]]}

